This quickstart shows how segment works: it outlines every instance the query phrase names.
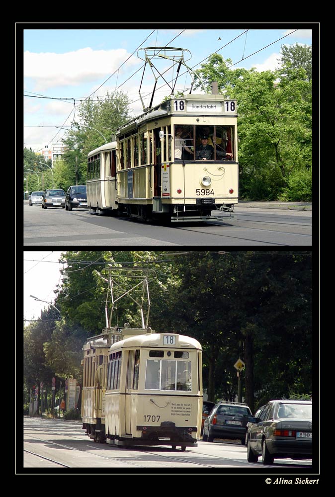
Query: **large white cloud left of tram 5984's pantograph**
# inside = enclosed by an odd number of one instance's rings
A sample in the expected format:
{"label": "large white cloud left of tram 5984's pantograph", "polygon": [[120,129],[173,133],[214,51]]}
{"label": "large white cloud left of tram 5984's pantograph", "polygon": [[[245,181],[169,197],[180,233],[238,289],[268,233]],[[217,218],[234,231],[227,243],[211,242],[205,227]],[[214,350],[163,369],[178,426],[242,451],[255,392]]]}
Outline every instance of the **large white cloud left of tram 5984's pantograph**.
{"label": "large white cloud left of tram 5984's pantograph", "polygon": [[[123,48],[92,50],[83,48],[65,54],[24,52],[24,77],[34,80],[34,89],[44,91],[56,86],[75,86],[111,75],[129,57]],[[127,68],[138,65],[131,57]],[[122,71],[122,70],[121,70]],[[120,73],[121,73],[120,71]]]}

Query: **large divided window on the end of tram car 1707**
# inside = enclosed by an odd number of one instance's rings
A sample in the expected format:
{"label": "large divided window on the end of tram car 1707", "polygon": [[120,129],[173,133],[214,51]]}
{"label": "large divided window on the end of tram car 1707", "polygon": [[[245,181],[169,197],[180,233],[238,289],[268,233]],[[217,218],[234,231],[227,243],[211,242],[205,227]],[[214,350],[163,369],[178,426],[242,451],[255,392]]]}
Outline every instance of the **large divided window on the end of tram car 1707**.
{"label": "large divided window on the end of tram car 1707", "polygon": [[146,390],[192,390],[191,361],[147,360]]}

